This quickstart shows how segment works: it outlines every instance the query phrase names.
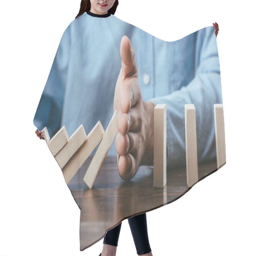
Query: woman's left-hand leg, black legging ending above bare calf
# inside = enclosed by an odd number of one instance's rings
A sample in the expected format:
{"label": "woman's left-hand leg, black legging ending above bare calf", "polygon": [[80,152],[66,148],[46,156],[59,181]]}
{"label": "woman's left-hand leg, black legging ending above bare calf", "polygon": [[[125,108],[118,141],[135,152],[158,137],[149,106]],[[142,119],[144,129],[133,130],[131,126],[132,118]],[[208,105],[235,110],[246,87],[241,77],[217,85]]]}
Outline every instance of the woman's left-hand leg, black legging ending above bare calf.
{"label": "woman's left-hand leg, black legging ending above bare calf", "polygon": [[110,229],[103,240],[101,256],[115,256],[118,238],[122,222],[115,228]]}

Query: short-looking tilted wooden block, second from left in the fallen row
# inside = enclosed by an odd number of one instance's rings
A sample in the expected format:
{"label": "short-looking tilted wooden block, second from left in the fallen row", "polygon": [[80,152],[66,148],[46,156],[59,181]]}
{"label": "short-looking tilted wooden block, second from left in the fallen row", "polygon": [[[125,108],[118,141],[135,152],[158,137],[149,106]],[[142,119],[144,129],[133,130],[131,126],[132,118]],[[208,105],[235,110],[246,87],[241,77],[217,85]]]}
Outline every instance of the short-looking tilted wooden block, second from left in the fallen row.
{"label": "short-looking tilted wooden block, second from left in the fallen row", "polygon": [[65,126],[63,126],[59,132],[57,132],[52,139],[48,142],[48,147],[52,152],[52,155],[55,156],[61,148],[65,146],[68,142],[68,133]]}

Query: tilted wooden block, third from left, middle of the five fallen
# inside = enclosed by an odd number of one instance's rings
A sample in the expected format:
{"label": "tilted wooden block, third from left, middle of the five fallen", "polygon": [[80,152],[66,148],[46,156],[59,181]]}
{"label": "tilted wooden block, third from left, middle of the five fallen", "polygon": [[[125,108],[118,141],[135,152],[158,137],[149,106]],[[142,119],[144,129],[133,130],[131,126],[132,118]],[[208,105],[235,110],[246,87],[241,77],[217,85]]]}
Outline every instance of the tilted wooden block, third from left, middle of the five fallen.
{"label": "tilted wooden block, third from left, middle of the five fallen", "polygon": [[87,136],[84,131],[84,126],[81,124],[77,130],[71,135],[67,144],[60,149],[60,151],[55,156],[57,163],[60,168],[68,163],[69,159],[76,153],[76,151],[82,146]]}

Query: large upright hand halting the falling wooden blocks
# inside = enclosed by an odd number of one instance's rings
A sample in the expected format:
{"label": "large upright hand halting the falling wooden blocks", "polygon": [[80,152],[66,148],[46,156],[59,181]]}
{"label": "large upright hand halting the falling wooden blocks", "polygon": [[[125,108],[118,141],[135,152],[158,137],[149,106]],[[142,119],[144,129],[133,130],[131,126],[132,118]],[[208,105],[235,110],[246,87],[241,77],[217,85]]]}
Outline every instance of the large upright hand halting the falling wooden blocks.
{"label": "large upright hand halting the falling wooden blocks", "polygon": [[153,164],[155,105],[142,100],[135,54],[127,36],[121,40],[120,55],[122,68],[114,96],[114,111],[118,110],[115,145],[119,174],[130,180],[140,165]]}

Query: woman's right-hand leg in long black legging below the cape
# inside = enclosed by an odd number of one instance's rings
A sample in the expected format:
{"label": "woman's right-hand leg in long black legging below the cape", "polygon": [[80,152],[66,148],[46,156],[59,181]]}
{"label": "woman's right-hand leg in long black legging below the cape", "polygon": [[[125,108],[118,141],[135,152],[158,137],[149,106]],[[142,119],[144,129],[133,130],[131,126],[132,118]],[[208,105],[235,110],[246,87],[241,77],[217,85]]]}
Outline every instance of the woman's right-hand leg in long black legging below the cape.
{"label": "woman's right-hand leg in long black legging below the cape", "polygon": [[138,255],[152,255],[148,241],[146,213],[128,219]]}

